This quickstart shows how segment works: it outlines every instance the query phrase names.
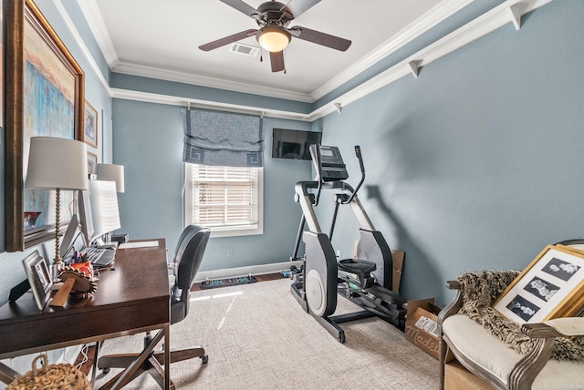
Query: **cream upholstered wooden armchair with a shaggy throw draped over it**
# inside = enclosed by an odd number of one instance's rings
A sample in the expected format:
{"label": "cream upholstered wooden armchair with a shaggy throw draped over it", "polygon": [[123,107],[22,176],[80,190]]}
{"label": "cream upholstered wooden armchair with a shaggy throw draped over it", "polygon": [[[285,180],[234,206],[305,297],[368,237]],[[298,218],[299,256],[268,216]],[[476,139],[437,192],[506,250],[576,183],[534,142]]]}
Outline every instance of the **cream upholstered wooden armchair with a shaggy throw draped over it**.
{"label": "cream upholstered wooden armchair with a shaggy throw draped over it", "polygon": [[584,388],[584,318],[519,326],[491,307],[518,273],[466,272],[447,282],[456,295],[438,318],[441,389],[448,350],[496,389]]}

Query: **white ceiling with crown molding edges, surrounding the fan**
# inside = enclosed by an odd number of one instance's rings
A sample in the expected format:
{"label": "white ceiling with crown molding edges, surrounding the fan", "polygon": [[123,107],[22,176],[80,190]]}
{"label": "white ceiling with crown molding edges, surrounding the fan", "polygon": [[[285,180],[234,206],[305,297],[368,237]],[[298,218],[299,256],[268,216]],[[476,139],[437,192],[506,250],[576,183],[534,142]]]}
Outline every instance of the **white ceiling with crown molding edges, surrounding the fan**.
{"label": "white ceiling with crown molding edges, surrounding the fan", "polygon": [[[263,1],[246,3],[255,8]],[[290,26],[347,38],[352,45],[339,52],[292,38],[285,51],[286,74],[271,72],[266,52],[260,62],[259,56],[230,52],[230,46],[198,48],[257,28],[254,19],[219,0],[87,0],[79,5],[113,71],[313,101],[463,3],[468,2],[322,0]],[[240,42],[259,46],[255,37]]]}

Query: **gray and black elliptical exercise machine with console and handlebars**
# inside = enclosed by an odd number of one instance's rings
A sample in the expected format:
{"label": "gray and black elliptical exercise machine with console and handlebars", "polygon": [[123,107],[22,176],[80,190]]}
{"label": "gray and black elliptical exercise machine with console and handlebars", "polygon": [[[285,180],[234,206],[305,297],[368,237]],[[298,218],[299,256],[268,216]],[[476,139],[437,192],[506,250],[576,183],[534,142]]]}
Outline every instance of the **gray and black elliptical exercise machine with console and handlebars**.
{"label": "gray and black elliptical exercise machine with console and handlebars", "polygon": [[[405,325],[406,301],[397,292],[391,291],[390,248],[381,232],[373,227],[357,197],[357,191],[365,180],[365,168],[359,146],[355,147],[355,154],[361,170],[361,180],[355,190],[343,181],[349,179],[349,172],[339,148],[318,144],[310,146],[317,177],[313,181],[298,181],[295,186],[295,200],[302,208],[302,219],[290,260],[302,260],[303,266],[301,270],[293,267],[294,282],[291,290],[303,309],[340,343],[345,342],[345,333],[339,323],[377,315],[400,330]],[[321,231],[314,211],[322,190],[336,192],[333,198],[335,210],[328,235]],[[343,204],[349,204],[360,224],[360,240],[357,258],[338,261],[331,239],[339,206]],[[305,231],[307,224],[308,230]],[[297,257],[300,240],[305,243],[303,258]],[[338,293],[364,310],[332,316],[337,309]]]}

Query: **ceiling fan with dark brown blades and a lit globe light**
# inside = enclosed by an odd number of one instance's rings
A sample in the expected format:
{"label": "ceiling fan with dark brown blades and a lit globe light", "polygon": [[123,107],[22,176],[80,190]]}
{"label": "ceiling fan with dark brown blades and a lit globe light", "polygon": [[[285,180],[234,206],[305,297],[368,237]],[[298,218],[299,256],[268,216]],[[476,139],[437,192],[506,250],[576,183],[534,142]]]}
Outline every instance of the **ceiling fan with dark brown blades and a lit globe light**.
{"label": "ceiling fan with dark brown blades and a lit globe light", "polygon": [[289,0],[286,5],[272,0],[262,3],[257,9],[251,5],[245,4],[241,0],[220,1],[255,19],[259,28],[256,30],[245,30],[232,36],[225,36],[216,41],[199,46],[203,51],[213,50],[217,47],[229,45],[238,40],[255,36],[255,39],[257,39],[260,46],[264,47],[270,53],[272,72],[279,72],[285,70],[284,49],[290,43],[292,36],[340,51],[347,50],[351,44],[351,41],[348,39],[340,38],[339,36],[331,36],[319,31],[311,30],[307,27],[293,26],[287,28],[290,21],[307,11],[308,8],[316,5],[320,0]]}

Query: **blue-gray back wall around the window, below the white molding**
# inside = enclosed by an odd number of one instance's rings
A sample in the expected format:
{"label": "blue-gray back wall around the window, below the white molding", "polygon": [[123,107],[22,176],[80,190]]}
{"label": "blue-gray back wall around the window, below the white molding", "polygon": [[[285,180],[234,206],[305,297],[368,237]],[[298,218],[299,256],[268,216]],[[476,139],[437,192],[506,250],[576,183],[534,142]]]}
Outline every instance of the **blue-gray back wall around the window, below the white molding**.
{"label": "blue-gray back wall around the window, below the white molding", "polygon": [[[130,239],[163,237],[172,249],[183,230],[184,108],[114,99],[113,111],[115,162],[126,168],[122,231]],[[292,254],[301,215],[294,184],[310,179],[311,163],[272,159],[272,128],[310,130],[310,124],[274,118],[263,124],[264,234],[212,238],[202,271],[287,262]]]}

